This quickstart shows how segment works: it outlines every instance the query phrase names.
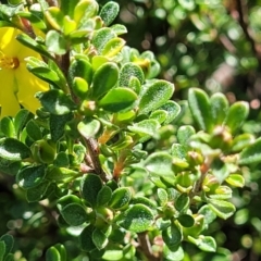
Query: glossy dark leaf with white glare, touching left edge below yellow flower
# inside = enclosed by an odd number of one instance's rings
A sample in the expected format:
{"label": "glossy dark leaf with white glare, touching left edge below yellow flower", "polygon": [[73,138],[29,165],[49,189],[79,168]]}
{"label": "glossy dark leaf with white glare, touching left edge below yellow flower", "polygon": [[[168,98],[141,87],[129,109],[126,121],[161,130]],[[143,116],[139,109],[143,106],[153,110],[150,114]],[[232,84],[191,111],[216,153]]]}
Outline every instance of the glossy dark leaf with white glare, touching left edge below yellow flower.
{"label": "glossy dark leaf with white glare, touching left edge below yellow flower", "polygon": [[0,139],[0,157],[10,161],[21,161],[30,157],[29,148],[14,138]]}

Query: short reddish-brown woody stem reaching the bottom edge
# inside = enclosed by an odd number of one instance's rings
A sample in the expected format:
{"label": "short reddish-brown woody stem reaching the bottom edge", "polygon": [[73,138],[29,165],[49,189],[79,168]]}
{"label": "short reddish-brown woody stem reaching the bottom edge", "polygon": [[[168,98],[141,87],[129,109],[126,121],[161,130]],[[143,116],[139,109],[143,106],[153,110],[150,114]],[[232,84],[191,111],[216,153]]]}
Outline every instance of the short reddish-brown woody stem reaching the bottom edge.
{"label": "short reddish-brown woody stem reaching the bottom edge", "polygon": [[138,234],[139,247],[138,249],[142,252],[148,261],[161,261],[161,257],[152,252],[151,244],[149,240],[148,232],[142,232]]}

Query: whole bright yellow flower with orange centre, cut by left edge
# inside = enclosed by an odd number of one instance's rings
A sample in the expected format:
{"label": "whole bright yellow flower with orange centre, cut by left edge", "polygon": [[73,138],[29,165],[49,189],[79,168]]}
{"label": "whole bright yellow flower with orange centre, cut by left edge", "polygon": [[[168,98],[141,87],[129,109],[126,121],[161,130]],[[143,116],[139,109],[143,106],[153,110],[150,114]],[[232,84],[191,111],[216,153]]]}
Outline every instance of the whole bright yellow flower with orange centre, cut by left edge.
{"label": "whole bright yellow flower with orange centre, cut by left edge", "polygon": [[35,113],[40,107],[35,94],[48,90],[48,84],[26,69],[25,58],[40,59],[39,53],[20,44],[15,39],[18,34],[15,28],[0,28],[0,117],[14,116],[20,104]]}

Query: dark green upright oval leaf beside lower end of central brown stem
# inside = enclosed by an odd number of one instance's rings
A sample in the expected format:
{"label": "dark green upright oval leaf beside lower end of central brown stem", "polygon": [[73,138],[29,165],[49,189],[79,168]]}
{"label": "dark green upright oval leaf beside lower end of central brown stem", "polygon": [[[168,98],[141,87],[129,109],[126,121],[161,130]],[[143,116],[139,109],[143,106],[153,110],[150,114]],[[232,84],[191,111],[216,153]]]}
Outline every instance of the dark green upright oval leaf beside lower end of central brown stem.
{"label": "dark green upright oval leaf beside lower end of central brown stem", "polygon": [[83,198],[90,204],[97,204],[97,196],[102,188],[102,182],[96,174],[87,174],[80,183],[80,192]]}

